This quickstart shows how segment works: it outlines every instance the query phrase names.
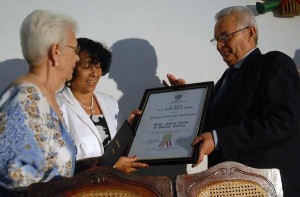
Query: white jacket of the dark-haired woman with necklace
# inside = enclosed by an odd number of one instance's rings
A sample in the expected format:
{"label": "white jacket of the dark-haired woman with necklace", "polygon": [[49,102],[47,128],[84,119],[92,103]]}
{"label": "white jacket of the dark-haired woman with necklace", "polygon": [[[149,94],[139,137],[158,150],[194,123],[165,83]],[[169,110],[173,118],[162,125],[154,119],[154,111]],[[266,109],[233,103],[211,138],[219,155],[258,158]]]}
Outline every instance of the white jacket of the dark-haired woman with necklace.
{"label": "white jacket of the dark-haired woman with necklace", "polygon": [[[118,126],[118,103],[110,95],[100,92],[93,92],[93,94],[101,107],[111,139],[113,139]],[[64,87],[57,93],[56,99],[77,147],[76,160],[101,156],[104,153],[103,139],[89,115],[73,96],[70,88]]]}

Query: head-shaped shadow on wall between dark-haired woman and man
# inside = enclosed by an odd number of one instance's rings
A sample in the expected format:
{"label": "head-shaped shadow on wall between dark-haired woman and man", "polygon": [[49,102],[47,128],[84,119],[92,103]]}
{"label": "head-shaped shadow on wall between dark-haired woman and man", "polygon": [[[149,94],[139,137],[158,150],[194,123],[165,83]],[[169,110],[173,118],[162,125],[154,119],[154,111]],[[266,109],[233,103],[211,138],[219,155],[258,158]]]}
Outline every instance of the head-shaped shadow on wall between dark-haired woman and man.
{"label": "head-shaped shadow on wall between dark-haired woman and man", "polygon": [[111,49],[113,56],[108,74],[123,93],[119,108],[125,119],[139,107],[145,89],[162,86],[156,76],[157,57],[153,46],[143,39],[119,40]]}

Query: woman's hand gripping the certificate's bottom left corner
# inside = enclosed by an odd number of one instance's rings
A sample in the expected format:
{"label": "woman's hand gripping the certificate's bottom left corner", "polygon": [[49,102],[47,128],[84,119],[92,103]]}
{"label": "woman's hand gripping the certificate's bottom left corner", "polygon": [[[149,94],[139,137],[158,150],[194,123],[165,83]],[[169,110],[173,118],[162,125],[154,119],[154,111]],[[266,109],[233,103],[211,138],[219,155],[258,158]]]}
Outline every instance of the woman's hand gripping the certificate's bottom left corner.
{"label": "woman's hand gripping the certificate's bottom left corner", "polygon": [[148,168],[149,165],[137,162],[137,157],[120,157],[114,168],[124,172],[131,173],[137,171],[139,168]]}

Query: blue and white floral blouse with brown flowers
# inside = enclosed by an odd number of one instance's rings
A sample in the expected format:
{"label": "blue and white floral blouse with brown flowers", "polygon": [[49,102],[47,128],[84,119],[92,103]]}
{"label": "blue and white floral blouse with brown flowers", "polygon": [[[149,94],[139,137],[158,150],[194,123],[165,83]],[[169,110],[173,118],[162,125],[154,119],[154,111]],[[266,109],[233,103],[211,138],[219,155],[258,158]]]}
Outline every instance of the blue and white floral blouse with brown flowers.
{"label": "blue and white floral blouse with brown flowers", "polygon": [[34,84],[11,86],[0,98],[0,186],[26,188],[75,167],[73,140]]}

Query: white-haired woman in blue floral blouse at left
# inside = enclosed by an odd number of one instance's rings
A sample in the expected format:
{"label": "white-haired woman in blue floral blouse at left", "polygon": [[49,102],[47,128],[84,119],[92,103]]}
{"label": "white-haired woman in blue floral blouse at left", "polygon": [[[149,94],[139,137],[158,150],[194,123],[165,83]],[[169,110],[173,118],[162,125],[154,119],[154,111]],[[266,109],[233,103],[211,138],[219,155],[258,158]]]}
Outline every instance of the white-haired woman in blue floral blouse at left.
{"label": "white-haired woman in blue floral blouse at left", "polygon": [[22,23],[29,71],[0,97],[2,188],[22,191],[35,182],[73,175],[76,148],[55,93],[72,78],[79,61],[76,29],[71,18],[45,10],[33,11]]}

